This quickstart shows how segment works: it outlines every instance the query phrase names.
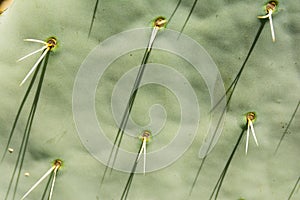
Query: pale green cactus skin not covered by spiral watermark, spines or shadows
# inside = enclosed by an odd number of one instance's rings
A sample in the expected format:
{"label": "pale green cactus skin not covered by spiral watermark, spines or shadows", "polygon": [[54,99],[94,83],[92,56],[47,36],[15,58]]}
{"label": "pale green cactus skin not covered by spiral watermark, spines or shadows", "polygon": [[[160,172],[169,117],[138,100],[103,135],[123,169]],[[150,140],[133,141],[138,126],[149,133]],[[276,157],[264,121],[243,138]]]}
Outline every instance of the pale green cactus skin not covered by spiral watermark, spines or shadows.
{"label": "pale green cactus skin not covered by spiral watermark, spines or shadows", "polygon": [[[263,14],[264,3],[258,0],[199,0],[187,24],[184,33],[199,42],[211,55],[226,88],[252,44],[260,25],[256,16]],[[16,0],[0,18],[1,154],[26,88],[26,85],[18,85],[37,59],[37,56],[33,56],[16,63],[17,59],[39,47],[38,44],[23,42],[23,39],[44,40],[54,35],[60,42],[58,51],[51,55],[48,63],[18,197],[47,171],[51,161],[56,158],[63,159],[65,165],[58,174],[53,199],[119,199],[127,181],[127,173],[114,171],[99,190],[105,166],[85,150],[77,135],[72,116],[73,82],[85,57],[101,41],[121,31],[148,27],[156,16],[170,16],[177,1],[101,0],[88,39],[94,4],[95,1]],[[180,30],[192,4],[192,0],[183,1],[168,28]],[[219,199],[287,199],[300,169],[299,114],[290,127],[291,134],[285,137],[277,155],[274,155],[274,150],[284,131],[283,126],[286,126],[299,100],[299,13],[299,2],[280,1],[279,12],[274,16],[276,43],[272,43],[270,27],[266,24],[233,96],[223,134],[209,154],[190,199],[208,199],[240,133],[242,115],[248,111],[256,111],[258,114],[255,129],[260,146],[257,148],[251,140],[249,153],[245,156],[245,140],[242,141]],[[105,100],[97,101],[98,118],[100,121],[101,118],[106,120],[105,128],[111,130],[111,138],[117,127],[108,108],[111,91],[108,86],[111,87],[115,82],[109,77],[120,76],[125,70],[138,65],[142,53],[133,52],[131,57],[124,58],[127,61],[121,62],[121,67],[116,61],[107,72],[107,80],[102,82],[103,85],[99,84],[97,99]],[[206,102],[200,104],[201,111],[205,113],[209,110],[209,95],[205,84],[201,76],[193,73],[191,66],[174,55],[159,51],[154,51],[149,61],[181,69],[194,87],[199,101]],[[161,98],[161,94],[166,97]],[[149,96],[157,98],[149,100]],[[145,104],[145,100],[149,102]],[[176,98],[171,93],[163,88],[143,88],[133,118],[138,123],[147,123],[149,119],[143,113],[153,103],[161,103],[169,111],[170,119],[164,128],[168,135],[165,134],[163,138],[167,144],[172,136],[170,133],[177,128],[179,115]],[[200,164],[198,151],[205,137],[206,123],[208,119],[201,118],[194,143],[177,162],[146,176],[135,176],[128,199],[187,199]],[[25,115],[20,119],[13,144],[19,142],[24,124]],[[132,141],[125,139],[123,144],[129,148]],[[138,142],[135,144],[131,145],[131,151],[137,151]],[[16,151],[9,154],[1,166],[1,199],[6,192],[16,155]],[[29,172],[30,176],[23,176],[25,172]],[[44,185],[39,186],[28,199],[39,199]],[[294,199],[299,197],[298,189]]]}

